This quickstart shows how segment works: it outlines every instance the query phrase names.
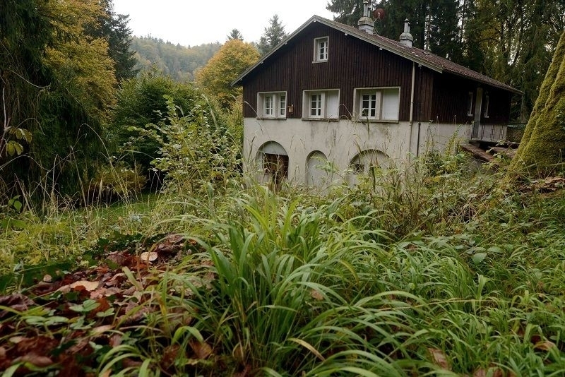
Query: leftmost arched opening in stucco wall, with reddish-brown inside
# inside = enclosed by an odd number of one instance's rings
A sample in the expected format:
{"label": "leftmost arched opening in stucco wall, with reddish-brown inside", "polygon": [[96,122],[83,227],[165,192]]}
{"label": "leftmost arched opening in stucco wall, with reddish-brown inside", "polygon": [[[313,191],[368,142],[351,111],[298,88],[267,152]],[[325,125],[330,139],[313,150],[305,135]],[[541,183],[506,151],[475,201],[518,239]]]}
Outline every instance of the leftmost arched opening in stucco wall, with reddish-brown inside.
{"label": "leftmost arched opening in stucco wall, with reddish-brown inside", "polygon": [[288,153],[283,145],[268,141],[261,145],[257,153],[258,164],[263,171],[263,178],[278,190],[283,179],[288,179]]}

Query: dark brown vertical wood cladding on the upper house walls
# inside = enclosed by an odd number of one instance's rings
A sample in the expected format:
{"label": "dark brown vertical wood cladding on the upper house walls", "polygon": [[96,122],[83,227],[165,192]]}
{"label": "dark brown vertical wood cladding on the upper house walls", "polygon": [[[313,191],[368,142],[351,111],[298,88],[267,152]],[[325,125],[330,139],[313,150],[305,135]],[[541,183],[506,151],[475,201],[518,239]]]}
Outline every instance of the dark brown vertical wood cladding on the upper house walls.
{"label": "dark brown vertical wood cladding on the upper house walls", "polygon": [[[314,39],[319,37],[328,37],[328,61],[314,63]],[[244,116],[256,116],[257,92],[286,91],[287,104],[294,105],[293,117],[300,118],[303,90],[339,89],[339,115],[349,119],[355,112],[355,88],[400,87],[399,121],[409,121],[412,68],[415,68],[413,121],[468,124],[474,120],[474,116],[467,114],[468,93],[476,95],[477,88],[481,87],[483,96],[489,95],[489,118],[481,121],[508,123],[510,92],[432,71],[315,21],[242,78]]]}

